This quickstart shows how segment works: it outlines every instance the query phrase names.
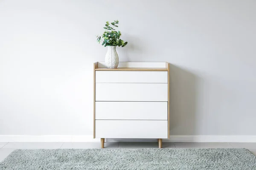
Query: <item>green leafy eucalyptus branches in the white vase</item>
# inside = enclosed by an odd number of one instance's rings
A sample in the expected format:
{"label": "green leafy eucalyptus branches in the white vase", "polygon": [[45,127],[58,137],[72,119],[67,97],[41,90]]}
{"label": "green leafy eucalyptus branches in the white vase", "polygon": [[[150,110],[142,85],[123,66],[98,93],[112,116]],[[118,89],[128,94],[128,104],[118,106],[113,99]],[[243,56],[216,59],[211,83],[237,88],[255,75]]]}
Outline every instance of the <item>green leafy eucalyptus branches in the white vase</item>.
{"label": "green leafy eucalyptus branches in the white vase", "polygon": [[101,43],[102,45],[104,45],[104,47],[106,46],[121,46],[124,47],[127,42],[124,42],[123,40],[120,39],[121,37],[121,32],[120,31],[116,31],[114,28],[118,27],[117,24],[119,23],[118,20],[114,21],[113,23],[111,23],[111,25],[109,24],[109,22],[107,21],[105,24],[105,31],[104,33],[99,36],[97,35],[97,42]]}

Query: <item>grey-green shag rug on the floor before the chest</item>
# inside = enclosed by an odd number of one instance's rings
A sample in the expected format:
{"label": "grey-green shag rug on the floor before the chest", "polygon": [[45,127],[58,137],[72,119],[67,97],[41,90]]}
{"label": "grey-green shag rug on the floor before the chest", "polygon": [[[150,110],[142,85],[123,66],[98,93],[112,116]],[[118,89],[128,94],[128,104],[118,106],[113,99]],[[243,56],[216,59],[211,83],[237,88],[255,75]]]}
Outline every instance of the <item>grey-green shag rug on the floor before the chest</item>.
{"label": "grey-green shag rug on the floor before the chest", "polygon": [[247,149],[15,150],[0,170],[256,170]]}

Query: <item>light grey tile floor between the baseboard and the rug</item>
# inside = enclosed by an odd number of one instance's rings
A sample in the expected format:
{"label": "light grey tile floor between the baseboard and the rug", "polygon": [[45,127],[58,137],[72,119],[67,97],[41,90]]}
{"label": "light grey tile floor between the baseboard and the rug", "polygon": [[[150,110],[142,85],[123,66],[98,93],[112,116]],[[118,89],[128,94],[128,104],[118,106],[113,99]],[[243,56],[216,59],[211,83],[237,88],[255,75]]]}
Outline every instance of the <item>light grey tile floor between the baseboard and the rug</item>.
{"label": "light grey tile floor between the baseboard and the rug", "polygon": [[[106,142],[107,148],[158,148],[157,142]],[[100,142],[0,142],[0,161],[15,149],[100,148]],[[246,148],[256,155],[256,143],[163,142],[163,148]]]}

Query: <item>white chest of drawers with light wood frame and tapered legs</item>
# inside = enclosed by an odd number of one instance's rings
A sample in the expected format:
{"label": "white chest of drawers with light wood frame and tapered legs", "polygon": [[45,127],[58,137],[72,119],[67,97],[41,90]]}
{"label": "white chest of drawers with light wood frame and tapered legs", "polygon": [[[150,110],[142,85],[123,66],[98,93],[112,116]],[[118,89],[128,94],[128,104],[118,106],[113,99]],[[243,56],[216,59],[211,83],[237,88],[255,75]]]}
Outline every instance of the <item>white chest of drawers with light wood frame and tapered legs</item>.
{"label": "white chest of drawers with light wood frame and tapered legs", "polygon": [[169,139],[169,63],[94,63],[93,137]]}

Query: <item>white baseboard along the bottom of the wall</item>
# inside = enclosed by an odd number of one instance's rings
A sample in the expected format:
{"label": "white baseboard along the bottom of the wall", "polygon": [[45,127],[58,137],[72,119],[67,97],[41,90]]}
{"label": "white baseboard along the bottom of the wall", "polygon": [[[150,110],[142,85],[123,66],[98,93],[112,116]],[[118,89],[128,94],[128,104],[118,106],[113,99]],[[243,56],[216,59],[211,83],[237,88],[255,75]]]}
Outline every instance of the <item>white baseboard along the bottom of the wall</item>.
{"label": "white baseboard along the bottom of the wall", "polygon": [[[0,142],[100,142],[92,135],[0,135]],[[106,142],[157,142],[157,139],[106,139]],[[171,135],[163,142],[256,142],[256,136]]]}

